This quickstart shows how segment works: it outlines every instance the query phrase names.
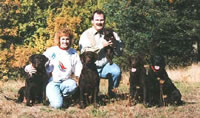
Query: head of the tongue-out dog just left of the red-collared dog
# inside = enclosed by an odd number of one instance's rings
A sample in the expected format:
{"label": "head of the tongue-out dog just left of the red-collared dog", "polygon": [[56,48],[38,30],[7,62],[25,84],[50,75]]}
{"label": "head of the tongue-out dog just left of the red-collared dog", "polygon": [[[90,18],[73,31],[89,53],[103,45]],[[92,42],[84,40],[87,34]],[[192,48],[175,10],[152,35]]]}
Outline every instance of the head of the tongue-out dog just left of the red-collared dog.
{"label": "head of the tongue-out dog just left of the red-collared dog", "polygon": [[144,59],[141,56],[131,56],[129,57],[129,65],[131,72],[136,72],[137,69],[144,67]]}

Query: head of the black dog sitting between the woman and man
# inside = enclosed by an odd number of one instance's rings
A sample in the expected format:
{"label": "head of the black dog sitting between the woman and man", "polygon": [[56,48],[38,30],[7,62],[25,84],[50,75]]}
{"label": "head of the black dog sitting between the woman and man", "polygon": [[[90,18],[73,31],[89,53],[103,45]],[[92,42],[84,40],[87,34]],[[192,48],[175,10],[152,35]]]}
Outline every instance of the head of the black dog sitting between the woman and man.
{"label": "head of the black dog sitting between the woman and man", "polygon": [[97,60],[97,54],[92,51],[87,51],[87,52],[83,52],[80,55],[80,58],[83,65],[94,64],[95,61]]}

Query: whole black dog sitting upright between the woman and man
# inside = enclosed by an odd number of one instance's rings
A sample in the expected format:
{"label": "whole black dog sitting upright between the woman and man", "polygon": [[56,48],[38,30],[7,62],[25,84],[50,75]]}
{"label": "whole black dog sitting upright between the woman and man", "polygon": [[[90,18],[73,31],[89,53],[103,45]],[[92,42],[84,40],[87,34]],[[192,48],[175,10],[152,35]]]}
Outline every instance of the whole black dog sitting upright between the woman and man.
{"label": "whole black dog sitting upright between the woman and man", "polygon": [[97,54],[88,51],[81,54],[80,58],[83,64],[83,69],[79,79],[80,108],[85,108],[88,102],[94,102],[94,107],[97,107],[97,96],[100,82],[97,67],[95,64]]}

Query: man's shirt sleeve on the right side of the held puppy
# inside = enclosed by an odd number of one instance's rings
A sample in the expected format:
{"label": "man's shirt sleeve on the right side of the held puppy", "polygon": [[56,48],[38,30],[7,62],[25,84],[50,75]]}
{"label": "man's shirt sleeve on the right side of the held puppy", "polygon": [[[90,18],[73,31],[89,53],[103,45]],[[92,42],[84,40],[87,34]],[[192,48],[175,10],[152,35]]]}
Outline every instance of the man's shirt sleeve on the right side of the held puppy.
{"label": "man's shirt sleeve on the right side of the held puppy", "polygon": [[114,48],[114,53],[116,56],[121,56],[123,53],[123,47],[124,44],[123,42],[120,40],[120,37],[118,36],[117,33],[113,32],[115,39],[116,39],[116,48]]}

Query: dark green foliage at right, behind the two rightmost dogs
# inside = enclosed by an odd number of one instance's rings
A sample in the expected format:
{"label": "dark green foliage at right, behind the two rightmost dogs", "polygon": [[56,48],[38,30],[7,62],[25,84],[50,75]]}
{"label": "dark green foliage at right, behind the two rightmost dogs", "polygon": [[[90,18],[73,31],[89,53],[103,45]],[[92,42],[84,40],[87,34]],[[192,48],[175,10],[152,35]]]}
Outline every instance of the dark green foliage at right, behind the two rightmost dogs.
{"label": "dark green foliage at right, behind the two rightmost dogs", "polygon": [[[193,39],[195,36],[197,39],[199,31],[195,30],[194,24],[199,25],[199,22],[180,15],[188,13],[181,5],[188,4],[187,0],[169,2],[111,0],[104,6],[108,17],[112,18],[110,22],[116,23],[116,29],[125,43],[124,58],[118,60],[122,67],[127,65],[127,57],[136,53],[144,55],[147,62],[151,54],[162,54],[172,67],[185,66],[195,60]],[[194,5],[195,2],[200,4],[197,1],[189,3]],[[194,11],[198,11],[197,7]],[[198,16],[193,15],[195,18]]]}

